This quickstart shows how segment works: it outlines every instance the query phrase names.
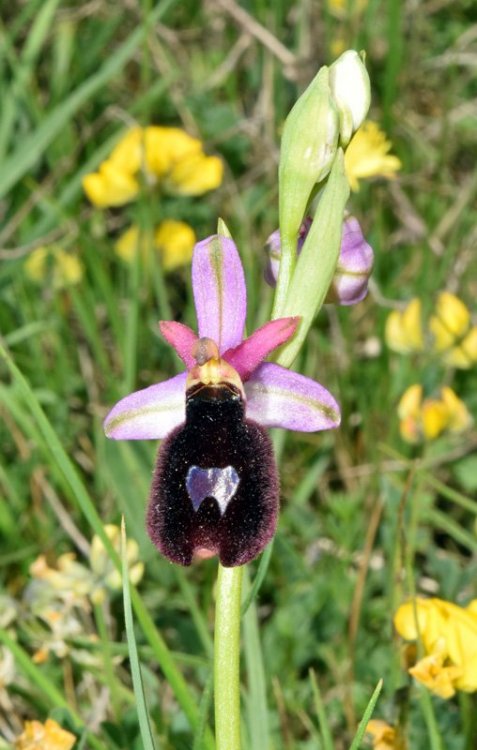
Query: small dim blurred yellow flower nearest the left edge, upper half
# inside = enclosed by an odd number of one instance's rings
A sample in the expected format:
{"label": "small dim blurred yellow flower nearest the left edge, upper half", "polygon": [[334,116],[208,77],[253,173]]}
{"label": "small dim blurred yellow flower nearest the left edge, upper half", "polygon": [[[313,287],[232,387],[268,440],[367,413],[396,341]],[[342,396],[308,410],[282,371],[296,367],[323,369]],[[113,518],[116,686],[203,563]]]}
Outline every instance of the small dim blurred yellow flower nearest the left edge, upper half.
{"label": "small dim blurred yellow flower nearest the left edge, upper half", "polygon": [[37,247],[25,261],[25,271],[37,283],[49,277],[57,290],[74,286],[83,278],[83,266],[78,257],[58,245]]}

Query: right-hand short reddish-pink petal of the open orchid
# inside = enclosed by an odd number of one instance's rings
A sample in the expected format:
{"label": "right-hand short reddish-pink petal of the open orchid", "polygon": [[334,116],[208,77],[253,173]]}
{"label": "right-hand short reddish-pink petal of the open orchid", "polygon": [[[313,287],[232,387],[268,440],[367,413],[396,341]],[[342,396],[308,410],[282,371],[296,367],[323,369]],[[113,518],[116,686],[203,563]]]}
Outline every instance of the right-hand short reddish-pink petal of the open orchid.
{"label": "right-hand short reddish-pink petal of the open orchid", "polygon": [[242,380],[248,380],[270,352],[293,336],[299,322],[299,317],[271,320],[235,349],[225,352],[224,359],[237,370]]}

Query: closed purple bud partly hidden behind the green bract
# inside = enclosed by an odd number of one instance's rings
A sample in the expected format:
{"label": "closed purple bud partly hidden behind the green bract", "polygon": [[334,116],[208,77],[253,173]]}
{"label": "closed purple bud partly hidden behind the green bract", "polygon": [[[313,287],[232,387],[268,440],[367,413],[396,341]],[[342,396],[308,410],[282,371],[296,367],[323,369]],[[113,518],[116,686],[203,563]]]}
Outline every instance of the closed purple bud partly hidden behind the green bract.
{"label": "closed purple bud partly hidden behind the green bract", "polygon": [[[311,227],[311,219],[306,218],[298,234],[297,251],[306,240]],[[276,230],[267,240],[268,255],[265,268],[265,281],[275,286],[280,268],[280,232]],[[354,216],[348,216],[343,222],[341,249],[333,281],[328,290],[325,302],[340,305],[354,305],[361,302],[368,291],[368,279],[373,268],[373,250],[366,242],[361,227]]]}

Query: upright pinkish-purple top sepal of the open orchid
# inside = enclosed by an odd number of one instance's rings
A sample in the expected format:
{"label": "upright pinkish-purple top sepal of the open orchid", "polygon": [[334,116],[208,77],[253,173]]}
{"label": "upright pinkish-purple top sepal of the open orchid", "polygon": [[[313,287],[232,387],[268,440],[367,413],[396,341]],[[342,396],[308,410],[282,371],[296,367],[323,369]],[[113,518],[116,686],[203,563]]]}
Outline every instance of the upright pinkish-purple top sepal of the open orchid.
{"label": "upright pinkish-purple top sepal of the open orchid", "polygon": [[213,235],[194,248],[192,287],[199,336],[213,339],[221,354],[242,341],[247,292],[234,242]]}

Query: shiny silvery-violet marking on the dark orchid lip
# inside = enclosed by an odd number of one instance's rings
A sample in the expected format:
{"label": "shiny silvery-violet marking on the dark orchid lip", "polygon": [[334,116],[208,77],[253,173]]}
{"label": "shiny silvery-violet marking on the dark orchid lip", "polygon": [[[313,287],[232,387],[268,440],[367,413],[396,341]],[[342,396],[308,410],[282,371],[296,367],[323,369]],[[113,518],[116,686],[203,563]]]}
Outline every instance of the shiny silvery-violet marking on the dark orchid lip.
{"label": "shiny silvery-violet marking on the dark orchid lip", "polygon": [[228,504],[237,492],[240,477],[233,466],[223,469],[213,467],[201,469],[191,466],[187,472],[187,494],[192,501],[192,507],[197,512],[206,497],[213,497],[217,501],[220,514],[223,516]]}

